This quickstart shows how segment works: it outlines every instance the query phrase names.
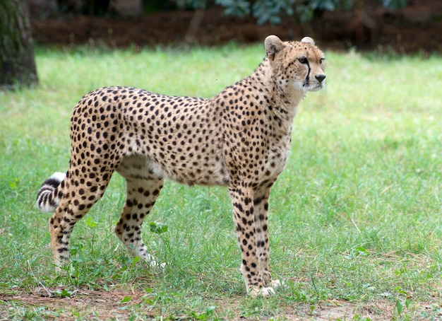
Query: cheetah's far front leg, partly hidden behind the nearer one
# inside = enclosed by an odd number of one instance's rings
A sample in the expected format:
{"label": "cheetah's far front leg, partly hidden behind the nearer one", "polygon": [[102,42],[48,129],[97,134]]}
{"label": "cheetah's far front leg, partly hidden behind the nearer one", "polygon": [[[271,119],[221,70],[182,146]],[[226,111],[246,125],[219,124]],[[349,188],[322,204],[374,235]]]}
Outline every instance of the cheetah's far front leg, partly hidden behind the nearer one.
{"label": "cheetah's far front leg, partly hidden behind the nearer one", "polygon": [[270,189],[273,182],[268,183],[265,187],[261,187],[255,192],[253,199],[255,219],[255,243],[256,255],[258,256],[258,267],[263,275],[265,286],[279,287],[279,280],[272,280],[268,268],[270,257],[270,249],[268,242],[268,201],[270,198]]}

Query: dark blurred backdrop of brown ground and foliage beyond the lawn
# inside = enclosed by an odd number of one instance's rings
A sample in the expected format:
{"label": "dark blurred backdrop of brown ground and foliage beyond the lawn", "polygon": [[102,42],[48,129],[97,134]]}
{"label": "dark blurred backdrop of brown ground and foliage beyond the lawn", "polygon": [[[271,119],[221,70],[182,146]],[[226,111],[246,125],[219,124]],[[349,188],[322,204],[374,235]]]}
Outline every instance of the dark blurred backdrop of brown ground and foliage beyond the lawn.
{"label": "dark blurred backdrop of brown ground and foliage beyond the lawn", "polygon": [[29,0],[38,44],[220,45],[313,37],[321,47],[441,52],[441,0]]}

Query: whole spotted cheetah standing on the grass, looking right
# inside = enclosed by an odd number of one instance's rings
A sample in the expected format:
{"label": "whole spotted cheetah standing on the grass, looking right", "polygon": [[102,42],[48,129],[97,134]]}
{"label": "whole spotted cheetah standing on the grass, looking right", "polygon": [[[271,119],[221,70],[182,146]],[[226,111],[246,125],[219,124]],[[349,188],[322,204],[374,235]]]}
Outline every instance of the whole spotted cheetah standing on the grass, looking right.
{"label": "whole spotted cheetah standing on the grass, looking right", "polygon": [[79,101],[71,117],[67,173],[40,187],[37,206],[49,219],[56,267],[69,259],[73,226],[103,195],[116,171],[126,202],[114,228],[132,255],[157,265],[141,225],[165,178],[224,185],[232,199],[246,293],[269,296],[280,281],[269,272],[270,189],[289,157],[292,122],[306,92],[325,86],[324,54],[311,37],[265,38],[265,58],[251,76],[211,99],[105,87]]}

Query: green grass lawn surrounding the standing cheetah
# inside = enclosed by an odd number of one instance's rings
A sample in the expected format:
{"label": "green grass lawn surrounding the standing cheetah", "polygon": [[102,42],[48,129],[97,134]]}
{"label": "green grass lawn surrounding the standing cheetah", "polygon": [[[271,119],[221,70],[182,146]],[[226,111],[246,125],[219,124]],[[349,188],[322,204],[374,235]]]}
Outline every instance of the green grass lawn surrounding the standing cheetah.
{"label": "green grass lawn surrounding the standing cheetah", "polygon": [[[37,49],[40,85],[0,92],[0,314],[284,319],[339,302],[355,307],[353,320],[363,320],[367,306],[371,317],[440,317],[441,57],[326,53],[327,88],[301,103],[292,154],[270,199],[270,268],[285,284],[275,297],[245,296],[223,188],[167,182],[143,230],[167,267],[152,272],[134,261],[112,230],[125,196],[118,175],[74,229],[75,277],[54,274],[50,215],[37,211],[35,194],[67,168],[69,118],[81,96],[124,85],[208,98],[251,74],[263,55],[261,45]],[[167,232],[150,232],[150,222]],[[84,293],[118,300],[81,308],[66,298],[86,300]]]}

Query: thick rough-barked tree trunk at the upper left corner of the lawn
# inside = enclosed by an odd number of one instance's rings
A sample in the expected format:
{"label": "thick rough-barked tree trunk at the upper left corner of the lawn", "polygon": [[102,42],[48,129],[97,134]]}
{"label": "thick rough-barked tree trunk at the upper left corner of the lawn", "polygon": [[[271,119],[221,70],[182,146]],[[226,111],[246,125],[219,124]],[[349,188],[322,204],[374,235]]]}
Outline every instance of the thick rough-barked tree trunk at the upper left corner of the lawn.
{"label": "thick rough-barked tree trunk at the upper left corner of the lawn", "polygon": [[28,0],[0,0],[0,88],[37,83]]}

